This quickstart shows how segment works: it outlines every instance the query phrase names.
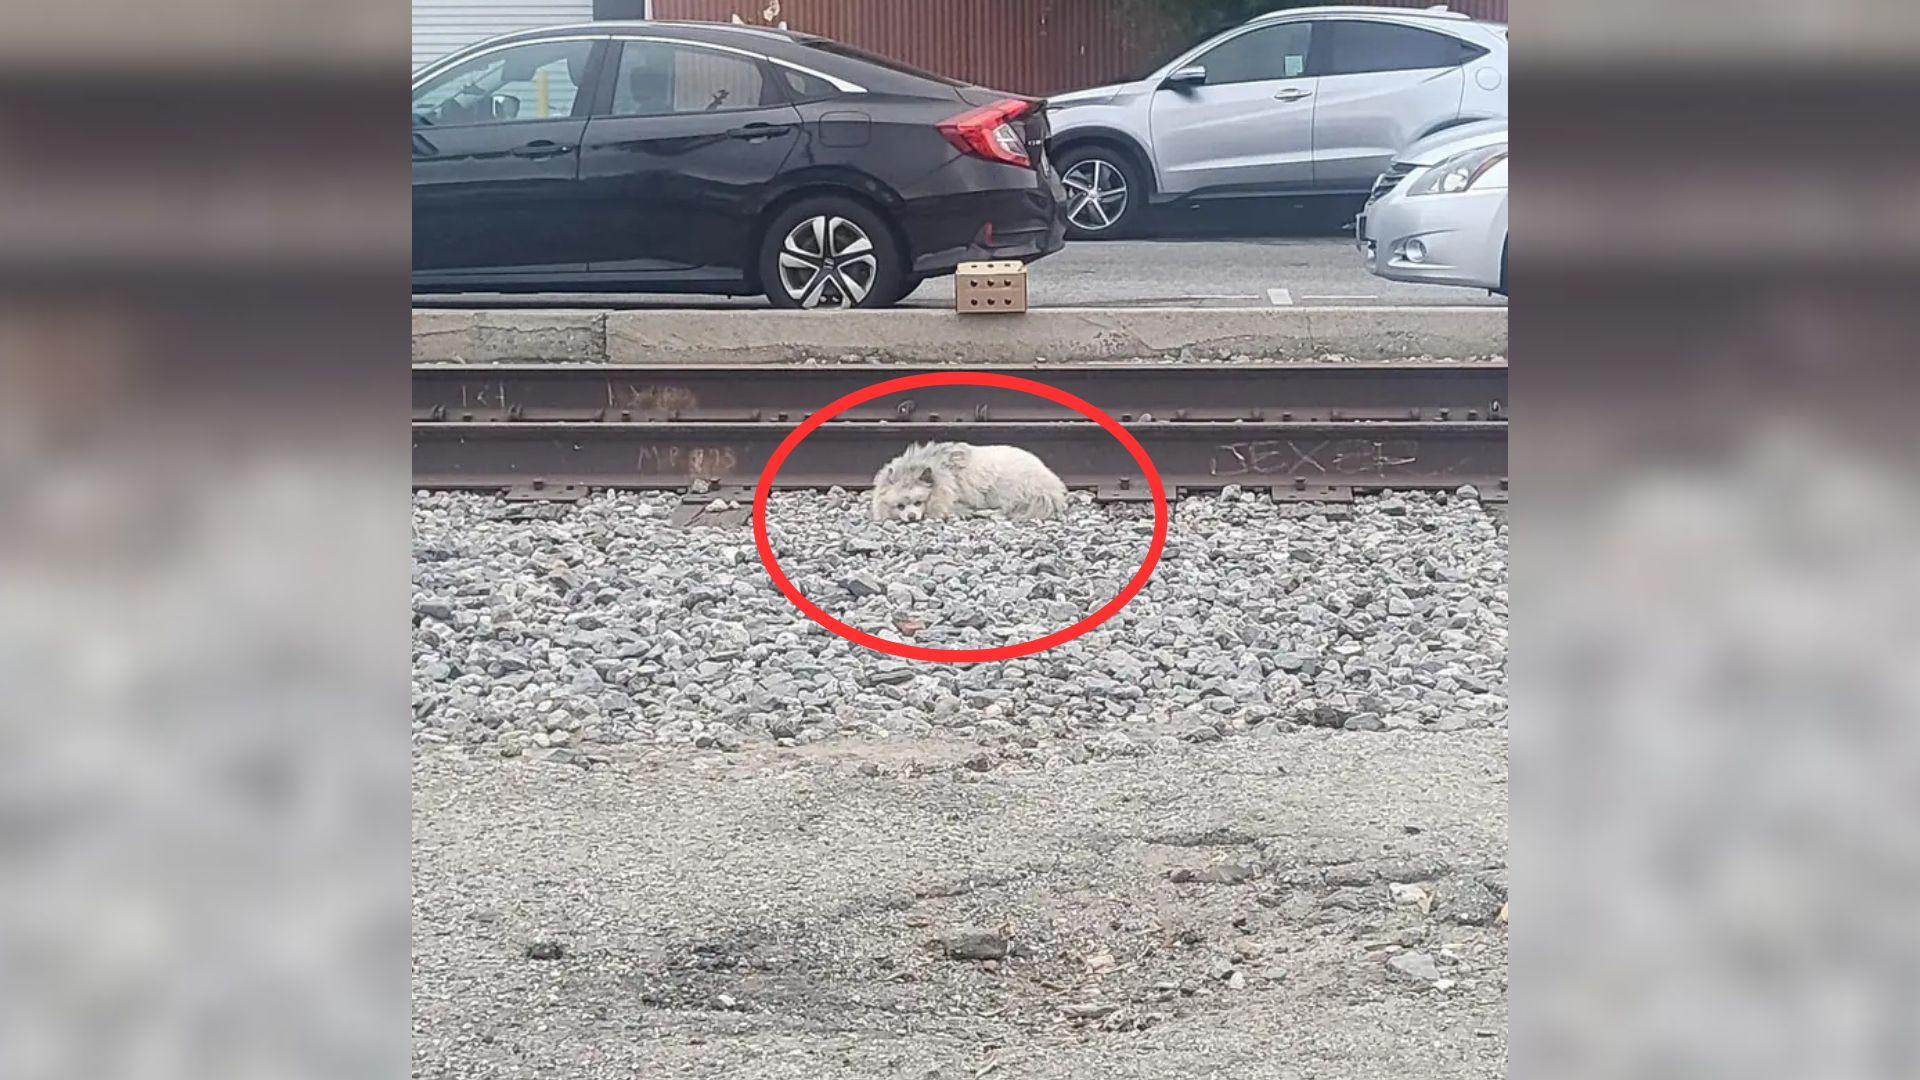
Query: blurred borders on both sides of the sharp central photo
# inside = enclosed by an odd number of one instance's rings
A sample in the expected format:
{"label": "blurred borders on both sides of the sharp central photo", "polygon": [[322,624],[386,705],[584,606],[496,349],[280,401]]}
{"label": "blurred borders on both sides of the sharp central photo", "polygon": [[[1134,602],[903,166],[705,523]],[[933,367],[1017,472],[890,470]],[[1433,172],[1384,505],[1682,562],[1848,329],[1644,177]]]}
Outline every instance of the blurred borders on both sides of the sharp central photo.
{"label": "blurred borders on both sides of the sharp central photo", "polygon": [[[401,12],[42,19],[0,15],[0,1076],[399,1074]],[[1521,23],[1519,1072],[1908,1076],[1914,8]]]}

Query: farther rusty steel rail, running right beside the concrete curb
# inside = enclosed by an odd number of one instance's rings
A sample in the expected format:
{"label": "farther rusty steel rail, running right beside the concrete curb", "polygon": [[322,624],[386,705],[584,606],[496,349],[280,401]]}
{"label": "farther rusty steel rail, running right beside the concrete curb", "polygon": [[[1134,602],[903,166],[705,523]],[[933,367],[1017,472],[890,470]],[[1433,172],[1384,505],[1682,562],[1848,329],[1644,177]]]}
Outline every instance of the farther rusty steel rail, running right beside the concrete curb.
{"label": "farther rusty steel rail, running right beside the concrete curb", "polygon": [[[415,365],[413,419],[442,421],[772,421],[799,423],[829,402],[918,365]],[[1075,394],[1121,421],[1498,421],[1505,363],[1075,363],[991,367]],[[1079,419],[1043,398],[993,386],[925,386],[858,405],[851,421]]]}

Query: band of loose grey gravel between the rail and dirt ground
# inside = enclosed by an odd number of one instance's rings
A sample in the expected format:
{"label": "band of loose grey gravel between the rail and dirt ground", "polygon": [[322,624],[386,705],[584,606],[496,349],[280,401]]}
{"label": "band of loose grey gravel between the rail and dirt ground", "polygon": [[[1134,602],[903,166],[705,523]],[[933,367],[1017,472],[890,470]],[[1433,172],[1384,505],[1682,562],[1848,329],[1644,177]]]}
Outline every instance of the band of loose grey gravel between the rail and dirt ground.
{"label": "band of loose grey gravel between the rail and dirt ground", "polygon": [[[415,740],[588,765],[634,742],[943,734],[993,748],[991,769],[1300,726],[1505,724],[1505,523],[1471,494],[1340,513],[1233,490],[1177,502],[1125,611],[1044,653],[973,665],[829,634],[774,588],[749,528],[672,527],[676,503],[417,494]],[[933,648],[1079,621],[1139,569],[1152,532],[1150,507],[1085,498],[1050,523],[876,525],[864,511],[856,492],[776,496],[783,571],[847,623]]]}

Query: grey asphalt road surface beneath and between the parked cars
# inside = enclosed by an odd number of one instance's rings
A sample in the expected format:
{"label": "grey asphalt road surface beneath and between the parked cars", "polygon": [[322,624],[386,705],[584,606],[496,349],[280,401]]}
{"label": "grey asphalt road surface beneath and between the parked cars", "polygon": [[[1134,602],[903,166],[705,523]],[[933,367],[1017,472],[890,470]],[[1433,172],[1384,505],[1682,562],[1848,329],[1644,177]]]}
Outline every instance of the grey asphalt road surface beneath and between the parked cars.
{"label": "grey asphalt road surface beneath and between the parked cars", "polygon": [[[1365,271],[1352,236],[1158,238],[1068,244],[1033,263],[1033,307],[1503,306],[1476,288],[1398,284]],[[764,307],[760,298],[664,294],[459,294],[417,298],[434,307]],[[952,304],[952,279],[908,300]]]}

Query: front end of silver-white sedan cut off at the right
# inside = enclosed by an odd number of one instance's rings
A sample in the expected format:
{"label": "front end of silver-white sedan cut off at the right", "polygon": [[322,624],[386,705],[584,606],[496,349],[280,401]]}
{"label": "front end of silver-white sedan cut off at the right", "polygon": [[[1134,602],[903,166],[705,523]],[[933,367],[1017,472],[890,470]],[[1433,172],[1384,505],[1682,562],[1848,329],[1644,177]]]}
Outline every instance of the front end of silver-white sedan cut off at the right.
{"label": "front end of silver-white sedan cut off at the right", "polygon": [[1367,271],[1507,294],[1507,123],[1444,131],[1404,150],[1354,223]]}

